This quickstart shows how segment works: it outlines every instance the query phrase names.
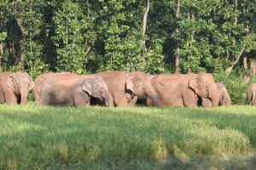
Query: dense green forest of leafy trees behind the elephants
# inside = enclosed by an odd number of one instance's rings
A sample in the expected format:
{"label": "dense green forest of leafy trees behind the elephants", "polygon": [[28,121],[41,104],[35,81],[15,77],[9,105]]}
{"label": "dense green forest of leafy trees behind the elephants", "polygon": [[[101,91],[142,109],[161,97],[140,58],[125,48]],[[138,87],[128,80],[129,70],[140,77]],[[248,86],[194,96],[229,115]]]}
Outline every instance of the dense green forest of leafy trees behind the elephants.
{"label": "dense green forest of leafy trees behind the elephants", "polygon": [[253,0],[1,0],[0,67],[255,75]]}

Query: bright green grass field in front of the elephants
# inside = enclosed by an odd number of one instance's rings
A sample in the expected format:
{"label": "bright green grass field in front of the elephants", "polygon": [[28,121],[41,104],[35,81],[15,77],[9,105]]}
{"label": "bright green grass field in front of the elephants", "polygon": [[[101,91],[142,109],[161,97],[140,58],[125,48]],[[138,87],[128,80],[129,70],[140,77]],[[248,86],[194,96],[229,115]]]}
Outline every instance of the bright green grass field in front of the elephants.
{"label": "bright green grass field in front of the elephants", "polygon": [[256,107],[0,105],[0,169],[255,169]]}

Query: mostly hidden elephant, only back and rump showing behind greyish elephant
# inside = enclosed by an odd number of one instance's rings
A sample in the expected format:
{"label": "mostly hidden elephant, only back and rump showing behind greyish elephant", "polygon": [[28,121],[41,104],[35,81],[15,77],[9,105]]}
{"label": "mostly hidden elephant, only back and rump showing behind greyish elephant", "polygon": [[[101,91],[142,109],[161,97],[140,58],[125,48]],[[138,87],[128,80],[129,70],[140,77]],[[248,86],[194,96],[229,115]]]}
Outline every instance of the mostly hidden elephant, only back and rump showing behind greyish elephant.
{"label": "mostly hidden elephant, only back and rump showing behind greyish elephant", "polygon": [[39,75],[34,81],[34,83],[35,83],[34,88],[32,88],[32,94],[33,94],[35,101],[38,102],[44,81],[50,77],[54,77],[55,75],[62,75],[62,74],[71,74],[71,73],[70,72],[60,72],[60,73],[48,72],[48,73]]}

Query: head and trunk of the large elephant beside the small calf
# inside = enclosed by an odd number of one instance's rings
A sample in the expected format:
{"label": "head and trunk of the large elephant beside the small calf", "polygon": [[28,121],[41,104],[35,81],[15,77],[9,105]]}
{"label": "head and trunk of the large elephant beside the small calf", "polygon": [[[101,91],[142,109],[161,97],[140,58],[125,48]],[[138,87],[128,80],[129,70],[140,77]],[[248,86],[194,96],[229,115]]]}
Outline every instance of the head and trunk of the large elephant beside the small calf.
{"label": "head and trunk of the large elephant beside the small calf", "polygon": [[218,106],[218,88],[211,74],[201,73],[189,81],[189,88],[195,91],[202,99],[210,99],[212,106]]}

